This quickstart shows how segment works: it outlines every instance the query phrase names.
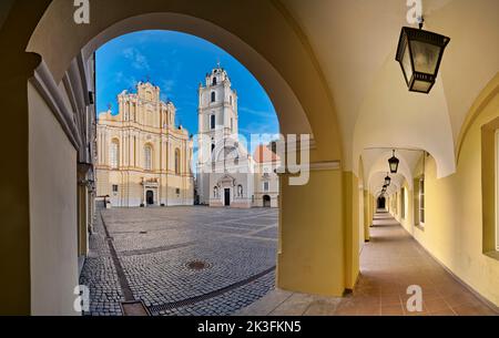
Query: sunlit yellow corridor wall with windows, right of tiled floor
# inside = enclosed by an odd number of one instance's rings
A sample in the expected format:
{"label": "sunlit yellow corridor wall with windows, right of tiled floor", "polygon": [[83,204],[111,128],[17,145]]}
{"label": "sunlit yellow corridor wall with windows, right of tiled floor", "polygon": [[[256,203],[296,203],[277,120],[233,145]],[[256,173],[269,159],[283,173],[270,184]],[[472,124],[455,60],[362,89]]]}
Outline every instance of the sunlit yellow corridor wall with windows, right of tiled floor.
{"label": "sunlit yellow corridor wall with windows, right of tiled floor", "polygon": [[[437,180],[436,162],[425,163],[425,226],[405,227],[457,277],[499,306],[499,260],[483,254],[481,126],[499,116],[496,95],[470,125],[462,140],[456,174]],[[415,177],[422,174],[422,160]],[[409,211],[417,223],[417,181]],[[413,198],[408,198],[413,201]]]}

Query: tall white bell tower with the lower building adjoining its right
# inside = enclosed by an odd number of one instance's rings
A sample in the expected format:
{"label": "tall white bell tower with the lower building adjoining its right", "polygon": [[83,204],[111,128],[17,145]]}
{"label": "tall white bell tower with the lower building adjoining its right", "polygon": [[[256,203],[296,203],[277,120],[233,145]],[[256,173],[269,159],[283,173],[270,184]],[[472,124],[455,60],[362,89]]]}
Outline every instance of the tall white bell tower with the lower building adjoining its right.
{"label": "tall white bell tower with the lower building adjoining its right", "polygon": [[221,66],[198,88],[197,194],[214,207],[277,207],[281,164],[271,146],[254,155],[240,142],[237,92]]}

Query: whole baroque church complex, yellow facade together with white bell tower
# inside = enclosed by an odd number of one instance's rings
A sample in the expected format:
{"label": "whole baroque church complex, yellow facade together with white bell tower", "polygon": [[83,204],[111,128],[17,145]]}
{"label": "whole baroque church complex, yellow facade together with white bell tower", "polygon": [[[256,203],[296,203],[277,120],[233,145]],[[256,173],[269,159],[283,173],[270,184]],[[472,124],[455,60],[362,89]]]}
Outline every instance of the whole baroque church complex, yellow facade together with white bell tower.
{"label": "whole baroque church complex, yellow facade together with white bell tower", "polygon": [[[139,83],[118,95],[119,111],[99,115],[96,195],[108,207],[202,205],[277,207],[279,157],[240,143],[237,92],[220,65],[198,88],[197,175],[194,141],[175,125],[175,106],[160,88]],[[195,182],[196,181],[196,182]],[[195,188],[196,185],[196,188]]]}

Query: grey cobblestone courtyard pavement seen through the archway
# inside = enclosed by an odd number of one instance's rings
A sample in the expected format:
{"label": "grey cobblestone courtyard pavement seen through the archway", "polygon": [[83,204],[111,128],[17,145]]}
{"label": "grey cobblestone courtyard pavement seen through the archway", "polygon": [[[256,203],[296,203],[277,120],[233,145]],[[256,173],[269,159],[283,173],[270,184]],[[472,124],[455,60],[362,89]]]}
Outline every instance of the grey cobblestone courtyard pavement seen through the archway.
{"label": "grey cobblestone courtyard pavement seen through the archway", "polygon": [[102,211],[81,275],[89,315],[122,315],[130,297],[153,315],[234,314],[274,289],[277,217],[264,208]]}

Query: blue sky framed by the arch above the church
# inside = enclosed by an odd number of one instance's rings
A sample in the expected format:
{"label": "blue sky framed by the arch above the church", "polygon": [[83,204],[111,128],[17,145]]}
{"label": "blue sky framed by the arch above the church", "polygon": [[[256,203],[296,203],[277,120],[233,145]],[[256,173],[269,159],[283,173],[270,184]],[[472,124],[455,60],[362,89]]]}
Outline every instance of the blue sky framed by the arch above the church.
{"label": "blue sky framed by the arch above the church", "polygon": [[139,81],[159,85],[162,100],[176,106],[176,123],[197,133],[197,85],[217,61],[228,72],[238,94],[240,133],[276,134],[275,110],[258,81],[236,59],[206,40],[172,31],[141,31],[116,38],[96,52],[98,112],[112,105],[116,95],[135,92]]}

